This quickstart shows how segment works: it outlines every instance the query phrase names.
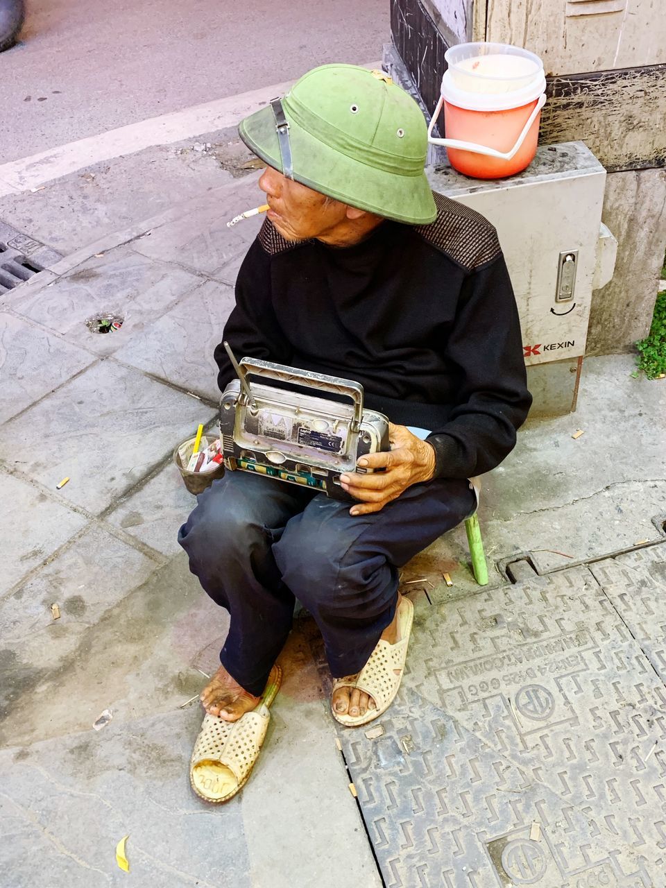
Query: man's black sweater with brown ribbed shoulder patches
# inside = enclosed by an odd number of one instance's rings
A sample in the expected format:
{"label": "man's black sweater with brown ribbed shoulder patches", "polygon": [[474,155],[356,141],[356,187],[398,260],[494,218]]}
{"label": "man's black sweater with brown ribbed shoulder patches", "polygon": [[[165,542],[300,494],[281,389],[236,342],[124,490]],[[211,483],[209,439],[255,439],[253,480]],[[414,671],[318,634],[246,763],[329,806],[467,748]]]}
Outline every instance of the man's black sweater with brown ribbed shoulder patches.
{"label": "man's black sweater with brown ribbed shoulder patches", "polygon": [[[488,472],[532,402],[496,231],[434,194],[428,226],[385,220],[352,247],[289,242],[266,220],[244,258],[224,337],[249,355],[354,379],[367,407],[431,430],[436,476]],[[218,385],[234,369],[215,350]]]}

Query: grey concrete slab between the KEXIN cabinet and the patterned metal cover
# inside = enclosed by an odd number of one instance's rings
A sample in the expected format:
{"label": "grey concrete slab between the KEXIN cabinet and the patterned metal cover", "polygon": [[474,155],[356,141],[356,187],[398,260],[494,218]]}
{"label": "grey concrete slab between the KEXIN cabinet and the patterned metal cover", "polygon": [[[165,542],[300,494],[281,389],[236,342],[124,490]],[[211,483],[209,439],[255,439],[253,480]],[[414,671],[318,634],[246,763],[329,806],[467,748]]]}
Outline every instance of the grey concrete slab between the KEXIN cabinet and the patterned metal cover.
{"label": "grey concrete slab between the KEXIN cabinet and the patterned metal cover", "polygon": [[[635,369],[632,354],[586,358],[575,413],[527,419],[518,446],[483,479],[482,501],[492,503],[496,518],[511,521],[603,489],[622,493],[628,481],[666,478],[666,385],[633,378]],[[572,438],[579,429],[583,435]]]}

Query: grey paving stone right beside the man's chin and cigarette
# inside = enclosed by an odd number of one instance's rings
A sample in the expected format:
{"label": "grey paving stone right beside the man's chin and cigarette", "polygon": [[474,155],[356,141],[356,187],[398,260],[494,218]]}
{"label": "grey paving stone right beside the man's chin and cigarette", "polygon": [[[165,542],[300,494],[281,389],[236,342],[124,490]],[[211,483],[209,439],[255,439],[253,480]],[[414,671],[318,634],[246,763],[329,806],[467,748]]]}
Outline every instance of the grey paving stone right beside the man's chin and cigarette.
{"label": "grey paving stone right beside the man's chin and cigarette", "polygon": [[258,177],[248,177],[233,187],[211,191],[195,209],[139,238],[133,249],[144,256],[215,274],[244,255],[257,236],[263,217],[244,219],[233,228],[226,226],[234,216],[266,202],[257,182]]}

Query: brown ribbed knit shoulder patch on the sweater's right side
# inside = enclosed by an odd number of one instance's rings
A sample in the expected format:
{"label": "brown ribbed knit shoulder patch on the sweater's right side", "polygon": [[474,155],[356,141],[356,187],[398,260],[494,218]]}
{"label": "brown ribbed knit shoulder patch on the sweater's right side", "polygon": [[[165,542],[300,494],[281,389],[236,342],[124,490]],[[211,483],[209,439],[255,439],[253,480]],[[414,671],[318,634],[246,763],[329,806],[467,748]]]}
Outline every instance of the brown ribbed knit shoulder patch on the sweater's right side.
{"label": "brown ribbed knit shoulder patch on the sweater's right side", "polygon": [[424,241],[446,253],[465,270],[485,265],[501,252],[495,226],[464,203],[452,201],[444,194],[432,192],[437,218],[430,225],[416,226]]}

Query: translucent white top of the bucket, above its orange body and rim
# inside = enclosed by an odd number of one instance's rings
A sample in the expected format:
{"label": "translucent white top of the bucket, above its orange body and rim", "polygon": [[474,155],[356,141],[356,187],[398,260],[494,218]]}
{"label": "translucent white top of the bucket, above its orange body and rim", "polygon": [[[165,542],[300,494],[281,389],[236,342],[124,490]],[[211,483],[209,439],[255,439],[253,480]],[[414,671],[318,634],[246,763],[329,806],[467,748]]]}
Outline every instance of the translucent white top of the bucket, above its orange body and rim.
{"label": "translucent white top of the bucket, above its orange body and rim", "polygon": [[512,92],[543,74],[543,62],[534,52],[510,44],[458,44],[444,59],[453,84],[469,92]]}

